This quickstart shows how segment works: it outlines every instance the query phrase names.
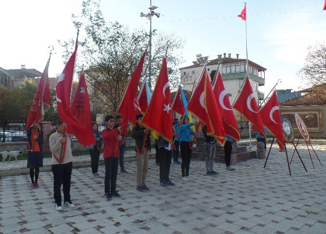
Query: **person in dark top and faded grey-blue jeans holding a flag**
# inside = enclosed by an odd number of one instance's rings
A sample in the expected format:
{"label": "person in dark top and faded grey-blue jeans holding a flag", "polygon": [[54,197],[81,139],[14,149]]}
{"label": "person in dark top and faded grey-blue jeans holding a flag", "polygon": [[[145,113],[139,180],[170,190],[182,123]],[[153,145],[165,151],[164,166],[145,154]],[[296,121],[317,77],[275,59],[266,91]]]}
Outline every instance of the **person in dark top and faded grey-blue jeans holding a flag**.
{"label": "person in dark top and faded grey-blue jeans holding a flag", "polygon": [[216,140],[214,137],[207,135],[207,126],[206,125],[202,126],[201,131],[205,137],[206,173],[209,176],[217,175],[218,173],[213,170],[215,150],[216,150]]}

